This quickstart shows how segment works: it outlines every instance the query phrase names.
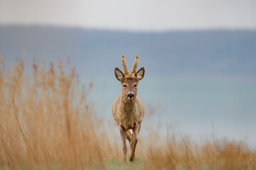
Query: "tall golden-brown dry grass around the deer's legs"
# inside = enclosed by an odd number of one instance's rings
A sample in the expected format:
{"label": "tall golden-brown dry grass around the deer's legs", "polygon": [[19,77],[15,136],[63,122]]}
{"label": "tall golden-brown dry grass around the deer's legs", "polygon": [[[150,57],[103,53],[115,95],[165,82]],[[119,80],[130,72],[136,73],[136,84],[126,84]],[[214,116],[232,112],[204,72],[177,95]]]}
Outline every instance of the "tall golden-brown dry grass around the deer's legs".
{"label": "tall golden-brown dry grass around the deer's legs", "polygon": [[168,130],[157,140],[150,124],[148,135],[139,135],[135,163],[124,164],[119,134],[87,97],[93,84],[82,87],[61,61],[48,70],[34,62],[30,77],[22,60],[9,72],[0,62],[0,169],[256,169],[256,152],[244,140],[213,135],[193,144]]}

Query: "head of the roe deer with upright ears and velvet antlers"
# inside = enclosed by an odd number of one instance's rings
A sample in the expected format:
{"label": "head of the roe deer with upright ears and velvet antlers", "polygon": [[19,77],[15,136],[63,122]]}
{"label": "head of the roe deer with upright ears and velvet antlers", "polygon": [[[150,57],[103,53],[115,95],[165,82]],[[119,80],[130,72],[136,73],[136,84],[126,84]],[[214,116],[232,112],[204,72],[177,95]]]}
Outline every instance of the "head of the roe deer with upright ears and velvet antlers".
{"label": "head of the roe deer with upright ears and velvet antlers", "polygon": [[124,55],[122,55],[122,67],[124,69],[124,73],[121,72],[117,67],[114,69],[115,77],[122,84],[122,96],[125,100],[134,101],[137,96],[137,86],[139,80],[144,77],[144,67],[137,71],[137,64],[139,62],[139,56],[136,56],[134,60],[134,64],[132,66],[132,72],[129,73],[127,69],[127,64],[125,62]]}

